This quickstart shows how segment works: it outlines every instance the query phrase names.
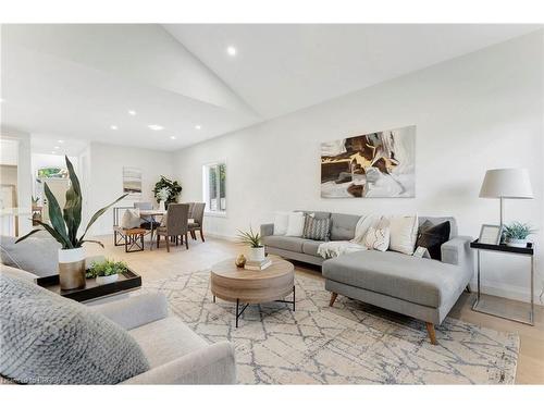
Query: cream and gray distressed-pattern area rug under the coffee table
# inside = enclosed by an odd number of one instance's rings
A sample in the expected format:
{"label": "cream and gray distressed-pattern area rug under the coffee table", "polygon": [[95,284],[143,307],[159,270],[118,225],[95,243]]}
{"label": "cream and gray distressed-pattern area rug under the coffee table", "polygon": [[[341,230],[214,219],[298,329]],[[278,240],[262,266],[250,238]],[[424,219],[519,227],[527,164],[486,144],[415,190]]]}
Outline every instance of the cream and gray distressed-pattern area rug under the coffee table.
{"label": "cream and gray distressed-pattern area rug under the coffee table", "polygon": [[329,293],[319,277],[296,276],[296,311],[249,306],[235,327],[232,302],[212,301],[209,271],[146,282],[210,343],[234,343],[242,384],[511,384],[519,336],[447,318],[437,346],[424,323]]}

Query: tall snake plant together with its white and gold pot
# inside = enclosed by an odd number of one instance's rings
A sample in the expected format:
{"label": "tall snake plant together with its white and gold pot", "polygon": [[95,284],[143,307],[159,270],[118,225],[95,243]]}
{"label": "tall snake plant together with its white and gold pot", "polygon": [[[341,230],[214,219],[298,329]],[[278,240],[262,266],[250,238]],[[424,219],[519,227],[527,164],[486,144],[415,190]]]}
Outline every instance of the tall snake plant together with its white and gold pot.
{"label": "tall snake plant together with its white and gold pot", "polygon": [[[85,287],[85,249],[83,244],[95,243],[103,247],[98,240],[86,239],[86,235],[90,226],[115,202],[122,200],[127,195],[119,197],[112,203],[98,210],[89,220],[83,234],[77,237],[77,231],[82,223],[82,188],[79,180],[75,174],[74,166],[65,157],[66,168],[70,177],[70,188],[66,190],[66,203],[64,209],[61,210],[57,198],[51,193],[51,189],[44,183],[44,193],[49,203],[49,220],[50,224],[41,220],[34,220],[37,224],[41,225],[51,236],[61,244],[59,249],[59,281],[62,289],[75,289]],[[15,243],[28,238],[30,235],[42,231],[36,228],[28,234],[18,238]]]}

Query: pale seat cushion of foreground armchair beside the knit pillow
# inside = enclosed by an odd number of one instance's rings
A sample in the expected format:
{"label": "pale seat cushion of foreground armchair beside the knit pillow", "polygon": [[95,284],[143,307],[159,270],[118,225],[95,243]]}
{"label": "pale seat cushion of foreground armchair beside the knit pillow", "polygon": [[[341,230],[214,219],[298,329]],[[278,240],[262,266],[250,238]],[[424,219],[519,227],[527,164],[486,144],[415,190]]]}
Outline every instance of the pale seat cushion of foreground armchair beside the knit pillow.
{"label": "pale seat cushion of foreground armchair beside the knit pillow", "polygon": [[128,333],[144,350],[151,368],[208,346],[203,338],[175,317],[156,320]]}

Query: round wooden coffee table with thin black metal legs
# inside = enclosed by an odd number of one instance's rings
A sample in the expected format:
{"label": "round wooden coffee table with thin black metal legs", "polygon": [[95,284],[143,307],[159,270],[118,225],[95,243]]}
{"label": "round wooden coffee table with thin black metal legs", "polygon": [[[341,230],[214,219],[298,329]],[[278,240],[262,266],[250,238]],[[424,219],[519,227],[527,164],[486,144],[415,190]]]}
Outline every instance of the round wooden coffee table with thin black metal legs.
{"label": "round wooden coffee table with thin black metal legs", "polygon": [[[295,267],[281,258],[271,258],[272,264],[263,271],[237,268],[234,258],[211,268],[211,293],[215,297],[236,302],[238,319],[249,305],[280,301],[293,305],[295,310]],[[293,293],[293,300],[284,298]],[[239,310],[240,304],[244,306]]]}

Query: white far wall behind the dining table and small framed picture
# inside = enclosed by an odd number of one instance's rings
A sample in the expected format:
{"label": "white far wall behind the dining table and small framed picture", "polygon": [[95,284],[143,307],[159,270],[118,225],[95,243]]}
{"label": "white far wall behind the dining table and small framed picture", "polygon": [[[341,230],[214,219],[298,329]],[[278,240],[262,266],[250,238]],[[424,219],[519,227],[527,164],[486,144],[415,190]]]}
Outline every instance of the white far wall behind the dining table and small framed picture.
{"label": "white far wall behind the dining table and small framed picture", "polygon": [[[140,201],[152,201],[154,205],[157,205],[152,193],[154,183],[161,175],[172,177],[174,173],[174,156],[171,152],[91,143],[86,157],[90,163],[88,191],[90,214],[123,195],[123,166],[141,169]],[[133,202],[134,199],[126,199],[116,206],[127,207]],[[110,209],[95,223],[91,233],[110,234],[112,224],[113,213]]]}

